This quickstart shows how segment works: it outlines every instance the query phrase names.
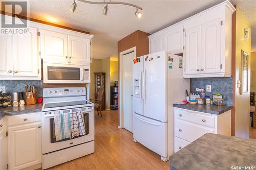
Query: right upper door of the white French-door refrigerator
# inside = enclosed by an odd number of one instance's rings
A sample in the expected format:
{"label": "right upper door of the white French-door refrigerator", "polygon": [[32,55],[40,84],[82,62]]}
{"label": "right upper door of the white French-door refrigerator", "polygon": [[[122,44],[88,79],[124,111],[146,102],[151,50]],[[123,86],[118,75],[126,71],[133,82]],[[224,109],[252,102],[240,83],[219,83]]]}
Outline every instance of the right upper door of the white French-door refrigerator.
{"label": "right upper door of the white French-door refrigerator", "polygon": [[166,115],[166,53],[149,54],[144,61],[144,116],[167,122]]}

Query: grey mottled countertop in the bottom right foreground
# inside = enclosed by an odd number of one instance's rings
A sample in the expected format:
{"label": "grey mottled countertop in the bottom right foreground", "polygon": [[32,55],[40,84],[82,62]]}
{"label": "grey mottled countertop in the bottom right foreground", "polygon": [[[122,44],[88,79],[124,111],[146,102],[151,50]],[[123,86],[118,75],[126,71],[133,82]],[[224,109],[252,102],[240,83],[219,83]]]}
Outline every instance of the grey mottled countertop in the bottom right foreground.
{"label": "grey mottled countertop in the bottom right foreground", "polygon": [[256,139],[206,133],[169,157],[172,170],[231,169],[231,166],[256,168]]}

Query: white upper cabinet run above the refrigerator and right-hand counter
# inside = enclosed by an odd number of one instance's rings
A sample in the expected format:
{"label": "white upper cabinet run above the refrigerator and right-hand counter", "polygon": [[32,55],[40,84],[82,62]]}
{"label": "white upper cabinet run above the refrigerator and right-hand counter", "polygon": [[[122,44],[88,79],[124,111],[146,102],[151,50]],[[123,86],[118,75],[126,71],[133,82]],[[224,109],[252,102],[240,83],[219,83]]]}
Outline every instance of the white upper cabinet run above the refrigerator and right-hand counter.
{"label": "white upper cabinet run above the refrigerator and right-hand counter", "polygon": [[183,53],[184,78],[230,77],[235,10],[225,1],[150,35],[150,53]]}

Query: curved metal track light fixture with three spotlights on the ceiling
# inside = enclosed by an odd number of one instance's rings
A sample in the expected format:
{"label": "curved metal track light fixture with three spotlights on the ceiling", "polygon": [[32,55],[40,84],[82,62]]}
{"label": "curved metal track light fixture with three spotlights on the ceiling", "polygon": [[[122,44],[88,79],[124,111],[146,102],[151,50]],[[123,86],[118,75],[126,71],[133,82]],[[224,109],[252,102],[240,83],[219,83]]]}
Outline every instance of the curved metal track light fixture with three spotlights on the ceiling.
{"label": "curved metal track light fixture with three spotlights on the ceiling", "polygon": [[[138,9],[142,10],[141,7],[137,6],[137,5],[134,5],[134,4],[130,4],[130,3],[124,3],[124,2],[112,2],[111,0],[109,2],[94,2],[94,1],[87,1],[87,0],[78,0],[82,3],[88,3],[88,4],[96,4],[96,5],[106,5],[104,8],[103,8],[103,12],[102,14],[103,15],[107,15],[108,14],[108,5],[109,4],[119,4],[119,5],[127,5],[127,6],[131,6],[131,7],[135,7],[137,10],[135,12],[135,15],[137,18],[141,18],[142,16],[142,13],[140,11],[138,11]],[[76,0],[74,0],[74,3],[71,5],[70,7],[70,11],[71,12],[75,12],[76,10]]]}

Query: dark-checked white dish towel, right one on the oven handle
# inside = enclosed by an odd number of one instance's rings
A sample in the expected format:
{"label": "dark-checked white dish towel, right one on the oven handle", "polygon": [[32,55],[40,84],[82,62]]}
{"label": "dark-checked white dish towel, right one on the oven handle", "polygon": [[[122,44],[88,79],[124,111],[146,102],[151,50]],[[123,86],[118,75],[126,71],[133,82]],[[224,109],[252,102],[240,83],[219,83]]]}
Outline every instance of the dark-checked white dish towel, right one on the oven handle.
{"label": "dark-checked white dish towel, right one on the oven handle", "polygon": [[83,136],[86,135],[86,129],[84,127],[83,113],[82,111],[73,112],[70,115],[71,121],[71,136]]}

